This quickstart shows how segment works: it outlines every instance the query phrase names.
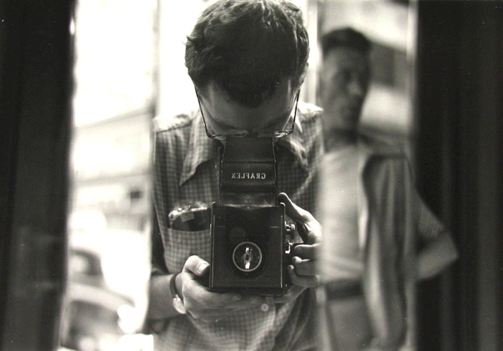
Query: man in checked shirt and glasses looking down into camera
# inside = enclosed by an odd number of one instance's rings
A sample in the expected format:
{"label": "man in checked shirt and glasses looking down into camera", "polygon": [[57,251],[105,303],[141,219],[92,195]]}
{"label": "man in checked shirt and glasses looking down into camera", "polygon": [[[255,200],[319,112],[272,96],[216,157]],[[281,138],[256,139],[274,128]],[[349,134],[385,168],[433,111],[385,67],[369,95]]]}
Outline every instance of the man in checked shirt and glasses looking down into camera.
{"label": "man in checked shirt and glasses looking down into camera", "polygon": [[[320,226],[313,214],[322,146],[319,109],[298,102],[308,53],[301,12],[283,0],[220,0],[201,14],[188,37],[185,61],[200,108],[174,119],[154,120],[154,225],[158,228],[152,237],[147,323],[155,349],[316,346],[315,303],[308,288],[318,284],[314,259]],[[235,141],[246,145],[242,140],[265,145],[274,169],[257,171],[256,163],[250,162],[249,171],[229,173],[230,184],[246,181],[251,190],[228,195],[221,167],[229,155],[239,154],[231,148]],[[241,146],[243,155],[253,153],[255,144],[249,145]],[[253,154],[250,159],[261,156]],[[264,196],[264,203],[259,203],[254,187],[269,180],[270,173],[274,180],[268,183],[272,186],[268,194],[274,191],[274,199]],[[230,208],[280,209],[295,222],[295,241],[301,244],[291,248],[284,267],[279,265],[289,280],[286,293],[260,294],[256,289],[248,294],[242,288],[210,291],[210,262],[218,249],[210,234],[210,223],[218,218],[211,217],[210,207],[220,202]],[[268,220],[258,217],[244,228],[230,230],[230,235],[239,237],[248,226],[260,227]],[[279,221],[284,222],[284,216]],[[231,254],[232,259],[237,257],[234,271],[229,271],[232,278],[241,284],[258,272],[253,271],[255,266],[264,270],[274,266],[275,258],[267,261],[266,253],[277,248],[267,245],[246,236]],[[238,247],[242,252],[236,251]],[[264,251],[260,256],[259,248]],[[221,259],[232,266],[229,257]],[[239,271],[244,278],[239,278]],[[284,287],[282,274],[276,278]]]}

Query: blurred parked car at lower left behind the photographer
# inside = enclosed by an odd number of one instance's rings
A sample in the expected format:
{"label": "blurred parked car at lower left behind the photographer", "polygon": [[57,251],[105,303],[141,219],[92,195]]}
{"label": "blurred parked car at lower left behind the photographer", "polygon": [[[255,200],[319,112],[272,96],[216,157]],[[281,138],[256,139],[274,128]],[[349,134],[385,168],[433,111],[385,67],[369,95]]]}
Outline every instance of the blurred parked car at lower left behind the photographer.
{"label": "blurred parked car at lower left behind the photographer", "polygon": [[[141,251],[144,241],[140,232],[126,230],[70,233],[61,346],[79,351],[118,350],[123,336],[140,331],[147,262],[141,252],[136,257],[131,253]],[[135,273],[132,265],[145,268]]]}

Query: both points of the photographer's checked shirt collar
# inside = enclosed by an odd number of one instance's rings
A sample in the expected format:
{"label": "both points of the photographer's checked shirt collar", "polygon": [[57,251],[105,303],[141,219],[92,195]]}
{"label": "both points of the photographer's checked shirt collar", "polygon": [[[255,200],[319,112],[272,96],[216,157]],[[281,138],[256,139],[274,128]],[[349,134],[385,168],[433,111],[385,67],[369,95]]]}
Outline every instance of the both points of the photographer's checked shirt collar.
{"label": "both points of the photographer's checked shirt collar", "polygon": [[[304,170],[308,170],[307,153],[304,145],[302,133],[302,123],[300,122],[301,112],[297,111],[295,120],[295,130],[292,134],[278,140],[278,144],[290,151]],[[218,154],[220,142],[209,138],[204,129],[201,112],[194,114],[193,123],[190,130],[189,147],[184,160],[180,186],[187,182],[196,173],[197,167],[203,162],[215,159]]]}

